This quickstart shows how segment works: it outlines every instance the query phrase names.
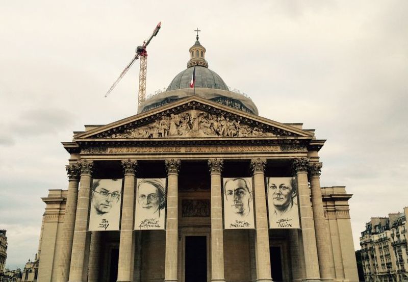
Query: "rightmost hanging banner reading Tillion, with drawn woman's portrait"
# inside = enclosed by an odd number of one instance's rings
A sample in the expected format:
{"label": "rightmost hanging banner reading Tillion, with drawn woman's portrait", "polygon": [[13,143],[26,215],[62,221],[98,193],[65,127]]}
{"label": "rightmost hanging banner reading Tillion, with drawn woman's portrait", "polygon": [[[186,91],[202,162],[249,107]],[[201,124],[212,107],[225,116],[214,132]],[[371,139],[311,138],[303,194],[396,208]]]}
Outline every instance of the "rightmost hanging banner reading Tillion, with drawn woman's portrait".
{"label": "rightmost hanging banner reading Tillion, with drawn woman's portrait", "polygon": [[266,177],[269,228],[300,228],[294,177]]}

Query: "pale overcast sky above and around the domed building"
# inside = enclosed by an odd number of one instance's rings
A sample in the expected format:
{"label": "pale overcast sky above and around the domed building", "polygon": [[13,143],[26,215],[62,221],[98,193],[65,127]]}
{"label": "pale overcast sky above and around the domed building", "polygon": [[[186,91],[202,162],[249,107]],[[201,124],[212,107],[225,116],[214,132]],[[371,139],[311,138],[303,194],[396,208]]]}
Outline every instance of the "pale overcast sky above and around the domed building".
{"label": "pale overcast sky above and around the domed building", "polygon": [[[139,5],[138,5],[139,4]],[[159,21],[147,93],[186,68],[194,30],[209,68],[259,114],[327,139],[323,186],[346,186],[354,246],[365,222],[408,206],[407,1],[0,0],[0,228],[10,268],[38,248],[40,197],[67,189],[62,141],[136,113],[139,64],[104,94]]]}

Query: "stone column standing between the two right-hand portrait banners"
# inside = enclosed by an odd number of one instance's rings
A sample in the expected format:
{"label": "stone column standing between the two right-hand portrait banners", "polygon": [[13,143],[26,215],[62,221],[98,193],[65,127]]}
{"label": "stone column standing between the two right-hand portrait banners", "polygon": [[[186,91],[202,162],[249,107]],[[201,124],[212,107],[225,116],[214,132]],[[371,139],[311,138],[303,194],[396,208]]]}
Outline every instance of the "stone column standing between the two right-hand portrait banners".
{"label": "stone column standing between the two right-hand portrait banners", "polygon": [[255,222],[256,234],[256,258],[257,258],[257,281],[272,281],[271,260],[269,254],[269,229],[266,213],[265,195],[265,159],[251,160],[253,171],[253,193],[255,194]]}

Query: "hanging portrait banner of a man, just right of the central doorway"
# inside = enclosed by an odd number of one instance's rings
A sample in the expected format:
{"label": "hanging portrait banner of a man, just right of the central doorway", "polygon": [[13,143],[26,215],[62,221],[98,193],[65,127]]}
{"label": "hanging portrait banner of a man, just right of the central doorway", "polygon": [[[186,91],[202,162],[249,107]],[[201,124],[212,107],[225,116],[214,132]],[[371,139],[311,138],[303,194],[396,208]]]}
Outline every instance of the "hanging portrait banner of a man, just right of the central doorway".
{"label": "hanging portrait banner of a man, just right of the central doorway", "polygon": [[253,229],[252,178],[223,178],[224,229]]}

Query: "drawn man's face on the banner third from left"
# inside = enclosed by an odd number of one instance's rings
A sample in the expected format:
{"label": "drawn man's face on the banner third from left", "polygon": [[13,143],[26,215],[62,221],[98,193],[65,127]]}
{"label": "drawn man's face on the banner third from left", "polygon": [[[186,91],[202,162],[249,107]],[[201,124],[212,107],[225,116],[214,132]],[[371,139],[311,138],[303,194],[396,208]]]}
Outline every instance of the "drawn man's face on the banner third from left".
{"label": "drawn man's face on the banner third from left", "polygon": [[230,206],[233,213],[242,217],[249,214],[249,201],[251,192],[243,178],[235,178],[225,183],[226,205]]}

